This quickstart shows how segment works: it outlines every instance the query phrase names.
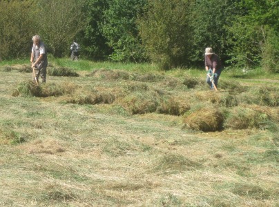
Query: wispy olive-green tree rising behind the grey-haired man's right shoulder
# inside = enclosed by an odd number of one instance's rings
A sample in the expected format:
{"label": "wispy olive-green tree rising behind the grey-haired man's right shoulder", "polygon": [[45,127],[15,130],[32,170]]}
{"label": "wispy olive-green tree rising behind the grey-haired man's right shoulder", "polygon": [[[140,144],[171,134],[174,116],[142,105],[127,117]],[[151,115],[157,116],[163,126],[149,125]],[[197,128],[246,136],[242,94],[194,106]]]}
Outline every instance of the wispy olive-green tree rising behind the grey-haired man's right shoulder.
{"label": "wispy olive-green tree rising behind the grey-haired man's right shoulder", "polygon": [[[55,57],[68,55],[70,43],[86,21],[81,0],[38,0],[36,28]],[[81,46],[82,47],[82,46]]]}

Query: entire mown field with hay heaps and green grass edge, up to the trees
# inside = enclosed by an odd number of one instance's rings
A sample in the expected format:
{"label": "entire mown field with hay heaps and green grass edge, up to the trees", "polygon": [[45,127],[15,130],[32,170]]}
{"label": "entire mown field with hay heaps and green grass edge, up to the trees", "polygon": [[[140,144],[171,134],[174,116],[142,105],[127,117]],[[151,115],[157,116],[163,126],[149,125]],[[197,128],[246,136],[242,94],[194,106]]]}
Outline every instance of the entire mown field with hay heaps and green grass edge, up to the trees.
{"label": "entire mown field with hay heaps and green grass edge, up to the trees", "polygon": [[0,65],[0,206],[279,206],[279,82],[225,70]]}

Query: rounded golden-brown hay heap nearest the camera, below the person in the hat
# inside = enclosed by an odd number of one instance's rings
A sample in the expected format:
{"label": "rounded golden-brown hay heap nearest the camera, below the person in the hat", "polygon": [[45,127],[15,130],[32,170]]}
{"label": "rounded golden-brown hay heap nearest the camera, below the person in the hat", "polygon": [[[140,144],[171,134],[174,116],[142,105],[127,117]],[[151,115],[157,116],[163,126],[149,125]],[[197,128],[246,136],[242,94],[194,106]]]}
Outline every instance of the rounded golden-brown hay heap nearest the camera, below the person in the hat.
{"label": "rounded golden-brown hay heap nearest the camera, below the person in the hat", "polygon": [[186,128],[214,132],[221,130],[224,123],[224,115],[216,108],[204,107],[192,112],[183,120]]}

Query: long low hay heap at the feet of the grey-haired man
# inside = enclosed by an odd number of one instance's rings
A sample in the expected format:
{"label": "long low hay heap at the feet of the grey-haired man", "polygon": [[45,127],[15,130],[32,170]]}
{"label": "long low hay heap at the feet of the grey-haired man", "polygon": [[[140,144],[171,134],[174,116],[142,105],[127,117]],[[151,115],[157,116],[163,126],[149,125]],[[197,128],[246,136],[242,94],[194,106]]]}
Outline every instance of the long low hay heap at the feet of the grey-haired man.
{"label": "long low hay heap at the feet of the grey-haired man", "polygon": [[12,96],[35,96],[35,97],[59,97],[61,95],[73,93],[77,86],[73,83],[44,83],[37,86],[33,81],[24,81],[12,93]]}

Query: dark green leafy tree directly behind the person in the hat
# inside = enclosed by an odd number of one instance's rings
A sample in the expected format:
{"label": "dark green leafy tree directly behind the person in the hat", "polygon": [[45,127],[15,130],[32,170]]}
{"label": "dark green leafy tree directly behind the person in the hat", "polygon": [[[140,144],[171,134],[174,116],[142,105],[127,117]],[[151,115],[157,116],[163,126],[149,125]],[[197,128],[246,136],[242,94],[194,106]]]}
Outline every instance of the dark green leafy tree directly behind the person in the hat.
{"label": "dark green leafy tree directly behind the person in the hat", "polygon": [[204,49],[213,48],[222,58],[229,59],[229,28],[232,19],[238,14],[235,0],[198,0],[191,7],[191,26],[193,28],[193,63],[203,63]]}

